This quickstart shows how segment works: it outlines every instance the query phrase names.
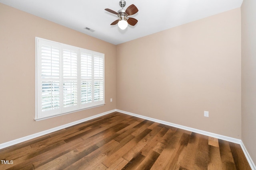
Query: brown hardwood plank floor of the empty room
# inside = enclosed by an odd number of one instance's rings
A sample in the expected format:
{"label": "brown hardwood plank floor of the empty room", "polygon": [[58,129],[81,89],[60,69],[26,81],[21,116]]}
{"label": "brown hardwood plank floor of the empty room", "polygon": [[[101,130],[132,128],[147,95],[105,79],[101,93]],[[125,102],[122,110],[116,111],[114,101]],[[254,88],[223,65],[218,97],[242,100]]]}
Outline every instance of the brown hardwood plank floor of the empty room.
{"label": "brown hardwood plank floor of the empty room", "polygon": [[238,144],[118,112],[2,149],[0,160],[0,170],[251,169]]}

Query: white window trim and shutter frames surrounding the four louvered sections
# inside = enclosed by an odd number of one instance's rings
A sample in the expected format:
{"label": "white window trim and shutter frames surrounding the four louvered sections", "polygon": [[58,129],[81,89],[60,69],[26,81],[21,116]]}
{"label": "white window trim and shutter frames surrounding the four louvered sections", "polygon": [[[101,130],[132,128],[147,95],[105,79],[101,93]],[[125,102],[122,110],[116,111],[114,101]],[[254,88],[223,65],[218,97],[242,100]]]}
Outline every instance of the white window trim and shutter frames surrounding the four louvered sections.
{"label": "white window trim and shutter frames surrounding the four louvered sections", "polygon": [[[63,47],[68,47],[68,48],[75,48],[78,50],[78,61],[77,61],[77,92],[78,92],[78,106],[76,109],[64,109],[66,111],[63,111],[63,108],[61,105],[62,105],[62,100],[63,100],[63,96],[62,96],[62,91],[63,91],[63,88],[62,88],[62,82],[63,82],[63,73],[62,73],[62,60],[60,61],[60,111],[58,111],[58,113],[52,113],[52,114],[48,114],[48,115],[42,115],[40,109],[42,108],[41,106],[41,100],[40,100],[40,93],[41,93],[41,90],[40,89],[40,80],[42,79],[41,78],[41,70],[40,70],[40,64],[41,64],[41,61],[38,61],[38,55],[40,53],[40,50],[39,50],[39,41],[48,41],[50,43],[56,43],[56,44],[59,44],[60,45],[60,56],[62,58],[62,52],[63,52]],[[103,99],[100,101],[100,102],[94,102],[94,90],[92,90],[92,103],[90,103],[89,105],[86,105],[86,104],[81,104],[81,58],[80,58],[80,53],[82,53],[82,51],[87,51],[87,52],[90,52],[92,53],[92,86],[94,86],[94,57],[95,56],[99,56],[100,58],[103,58],[103,78],[101,80],[103,80]],[[104,106],[105,104],[105,64],[104,64],[104,54],[103,53],[98,53],[98,52],[95,52],[95,51],[90,51],[90,50],[87,50],[87,49],[82,49],[82,48],[79,48],[79,47],[74,47],[74,46],[71,46],[71,45],[66,45],[66,44],[63,44],[63,43],[58,43],[58,42],[55,42],[55,41],[50,41],[50,40],[47,40],[47,39],[42,39],[42,38],[39,38],[39,37],[36,37],[36,74],[35,74],[35,80],[36,80],[36,95],[35,95],[35,105],[36,105],[36,109],[35,109],[35,120],[36,121],[39,121],[39,120],[44,120],[44,119],[48,119],[48,118],[51,118],[51,117],[56,117],[56,116],[60,116],[60,115],[65,115],[65,114],[68,114],[68,113],[74,113],[74,112],[77,112],[77,111],[81,111],[81,110],[85,110],[85,109],[90,109],[90,108],[94,108],[94,107],[99,107],[99,106]],[[41,113],[41,114],[40,114]]]}

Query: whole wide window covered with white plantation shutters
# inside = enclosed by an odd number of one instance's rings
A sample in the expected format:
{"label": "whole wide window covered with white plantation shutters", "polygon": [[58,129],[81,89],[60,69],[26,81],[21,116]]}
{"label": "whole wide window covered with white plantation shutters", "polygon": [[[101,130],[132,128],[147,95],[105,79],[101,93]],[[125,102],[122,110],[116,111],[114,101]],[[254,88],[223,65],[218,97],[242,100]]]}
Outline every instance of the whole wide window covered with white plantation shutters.
{"label": "whole wide window covered with white plantation shutters", "polygon": [[36,120],[104,102],[104,54],[36,37]]}

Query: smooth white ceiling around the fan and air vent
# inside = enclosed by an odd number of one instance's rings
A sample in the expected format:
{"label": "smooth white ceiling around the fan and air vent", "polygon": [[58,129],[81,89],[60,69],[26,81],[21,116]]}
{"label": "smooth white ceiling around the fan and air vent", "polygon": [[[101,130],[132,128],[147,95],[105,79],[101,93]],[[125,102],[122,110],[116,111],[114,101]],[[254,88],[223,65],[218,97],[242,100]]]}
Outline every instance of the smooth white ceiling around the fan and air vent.
{"label": "smooth white ceiling around the fan and air vent", "polygon": [[[243,0],[126,0],[126,9],[134,4],[132,15],[138,23],[125,30],[110,25],[118,17],[105,11],[122,9],[119,0],[0,0],[0,3],[64,25],[112,44],[144,37],[184,23],[239,8]],[[84,29],[88,27],[94,32]]]}

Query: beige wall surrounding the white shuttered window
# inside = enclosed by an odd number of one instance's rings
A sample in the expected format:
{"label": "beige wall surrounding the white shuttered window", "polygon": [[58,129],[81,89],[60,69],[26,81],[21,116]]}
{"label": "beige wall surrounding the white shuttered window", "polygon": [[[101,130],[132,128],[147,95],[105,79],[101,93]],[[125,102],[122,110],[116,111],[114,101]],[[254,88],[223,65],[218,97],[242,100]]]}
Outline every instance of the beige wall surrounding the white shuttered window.
{"label": "beige wall surrounding the white shuttered window", "polygon": [[[34,121],[35,37],[104,53],[106,105]],[[116,46],[0,3],[0,81],[4,143],[116,109]]]}

